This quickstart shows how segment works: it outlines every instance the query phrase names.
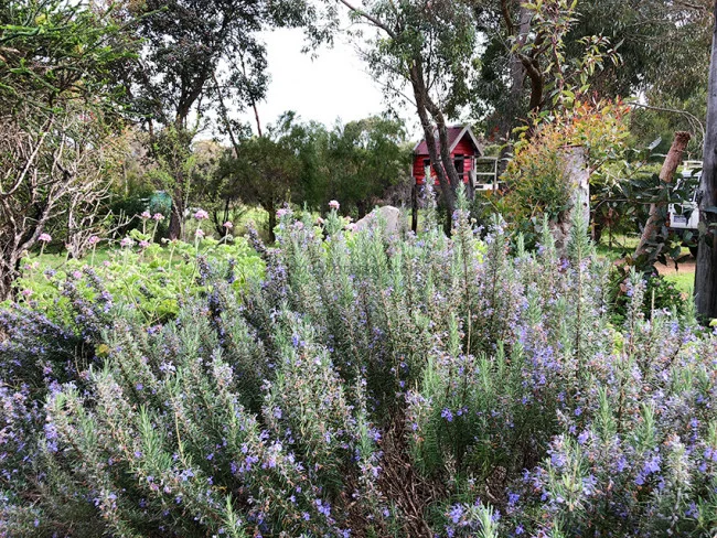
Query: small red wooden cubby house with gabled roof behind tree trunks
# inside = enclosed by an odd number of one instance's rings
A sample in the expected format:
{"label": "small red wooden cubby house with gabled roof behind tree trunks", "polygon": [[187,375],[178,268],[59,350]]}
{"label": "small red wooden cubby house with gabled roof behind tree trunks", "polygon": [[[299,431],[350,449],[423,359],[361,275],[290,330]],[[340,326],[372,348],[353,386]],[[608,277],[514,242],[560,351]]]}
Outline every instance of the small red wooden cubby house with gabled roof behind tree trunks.
{"label": "small red wooden cubby house with gabled roof behind tree trunks", "polygon": [[[436,151],[438,151],[438,132],[436,132]],[[464,183],[475,186],[475,162],[483,157],[483,146],[478,141],[469,126],[451,126],[448,128],[448,144],[451,152],[453,165],[459,177]],[[414,179],[417,185],[426,181],[426,172],[430,172],[430,159],[426,140],[421,140],[414,148]],[[434,182],[438,185],[438,177],[435,173]]]}

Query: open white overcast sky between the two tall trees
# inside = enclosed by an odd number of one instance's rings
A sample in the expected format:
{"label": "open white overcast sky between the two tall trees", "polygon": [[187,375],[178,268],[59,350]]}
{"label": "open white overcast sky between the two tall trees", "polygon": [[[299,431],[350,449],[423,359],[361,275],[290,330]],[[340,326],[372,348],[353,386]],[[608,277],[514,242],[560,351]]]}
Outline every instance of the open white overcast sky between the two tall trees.
{"label": "open white overcast sky between the two tall trees", "polygon": [[[354,47],[336,40],[333,49],[321,47],[317,57],[302,54],[303,34],[298,29],[263,33],[267,44],[267,66],[271,76],[267,98],[259,103],[261,127],[274,123],[287,110],[302,120],[315,120],[331,128],[338,118],[344,123],[385,110],[381,86],[366,72]],[[402,115],[414,122],[413,110]],[[243,119],[256,131],[254,112]]]}

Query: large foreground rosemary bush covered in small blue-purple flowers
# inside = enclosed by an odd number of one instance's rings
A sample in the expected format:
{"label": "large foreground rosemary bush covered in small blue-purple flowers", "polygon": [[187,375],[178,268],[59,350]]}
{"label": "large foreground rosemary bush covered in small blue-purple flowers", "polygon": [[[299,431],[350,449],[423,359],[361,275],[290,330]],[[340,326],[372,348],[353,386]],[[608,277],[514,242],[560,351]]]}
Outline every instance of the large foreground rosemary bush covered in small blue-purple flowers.
{"label": "large foreground rosemary bush covered in small blue-purple flowers", "polygon": [[500,222],[479,240],[464,201],[453,223],[287,209],[276,248],[252,238],[264,278],[202,262],[161,323],[6,311],[0,532],[714,534],[717,338],[648,320],[634,273],[612,325],[585,223],[567,259],[547,232],[515,256]]}

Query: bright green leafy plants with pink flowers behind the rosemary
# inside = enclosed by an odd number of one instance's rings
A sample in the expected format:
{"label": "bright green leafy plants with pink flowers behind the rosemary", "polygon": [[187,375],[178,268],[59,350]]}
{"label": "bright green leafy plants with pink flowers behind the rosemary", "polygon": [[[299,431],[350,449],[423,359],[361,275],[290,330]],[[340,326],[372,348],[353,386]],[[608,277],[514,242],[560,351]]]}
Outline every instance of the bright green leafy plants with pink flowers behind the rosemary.
{"label": "bright green leafy plants with pink flowers behind the rosemary", "polygon": [[84,301],[132,304],[149,322],[159,322],[174,316],[180,300],[202,288],[197,256],[222,263],[226,270],[231,265],[236,288],[263,272],[260,258],[242,237],[228,241],[227,234],[217,241],[202,234],[193,244],[172,241],[163,249],[151,236],[132,230],[119,241],[120,249],[110,251],[109,260],[101,263],[95,263],[94,252],[89,262],[68,260],[57,270],[26,259],[17,288],[25,304],[53,319],[74,315],[68,311],[69,287]]}

